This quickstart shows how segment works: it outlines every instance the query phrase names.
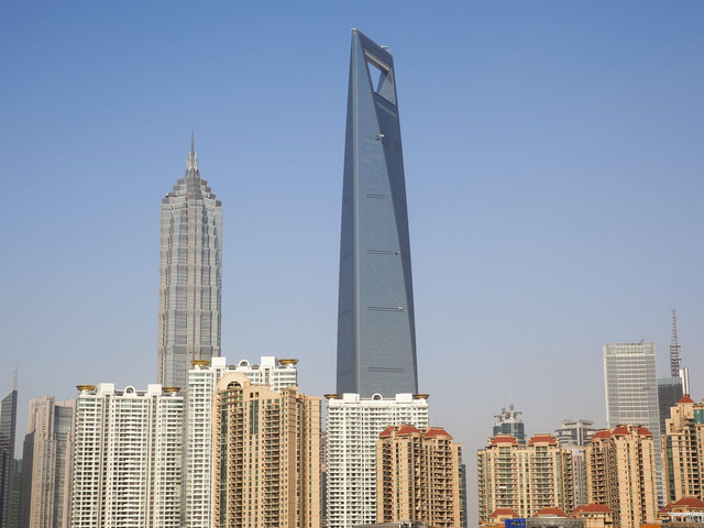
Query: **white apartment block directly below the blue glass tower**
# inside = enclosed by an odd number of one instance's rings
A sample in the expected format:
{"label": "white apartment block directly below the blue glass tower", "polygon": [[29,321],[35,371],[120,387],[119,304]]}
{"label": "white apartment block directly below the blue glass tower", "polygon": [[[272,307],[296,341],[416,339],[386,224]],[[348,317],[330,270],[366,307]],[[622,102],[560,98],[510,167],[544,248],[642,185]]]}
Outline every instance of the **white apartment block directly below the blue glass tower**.
{"label": "white apartment block directly below the blue glass tower", "polygon": [[376,522],[376,440],[388,426],[428,427],[428,395],[328,394],[328,528]]}

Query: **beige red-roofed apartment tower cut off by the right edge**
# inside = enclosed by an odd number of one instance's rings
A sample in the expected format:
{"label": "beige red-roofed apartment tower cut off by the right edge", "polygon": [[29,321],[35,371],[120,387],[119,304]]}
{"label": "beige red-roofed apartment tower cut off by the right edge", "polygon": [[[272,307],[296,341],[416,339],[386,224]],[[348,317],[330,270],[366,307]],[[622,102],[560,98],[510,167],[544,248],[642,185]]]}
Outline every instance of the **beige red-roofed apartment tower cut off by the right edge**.
{"label": "beige red-roofed apartment tower cut off by the right edge", "polygon": [[704,403],[696,404],[688,395],[670,409],[662,435],[666,501],[682,497],[702,498],[704,474]]}

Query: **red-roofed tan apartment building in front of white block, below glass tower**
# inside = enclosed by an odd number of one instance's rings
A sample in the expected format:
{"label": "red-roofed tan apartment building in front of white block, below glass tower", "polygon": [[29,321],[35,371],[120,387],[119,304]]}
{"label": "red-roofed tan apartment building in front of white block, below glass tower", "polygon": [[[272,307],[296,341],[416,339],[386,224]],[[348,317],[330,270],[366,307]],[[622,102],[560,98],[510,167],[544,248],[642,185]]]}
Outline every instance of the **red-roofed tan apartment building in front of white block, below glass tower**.
{"label": "red-roofed tan apartment building in front of white block, below glass tower", "polygon": [[376,518],[464,526],[462,448],[442,428],[389,426],[376,441]]}

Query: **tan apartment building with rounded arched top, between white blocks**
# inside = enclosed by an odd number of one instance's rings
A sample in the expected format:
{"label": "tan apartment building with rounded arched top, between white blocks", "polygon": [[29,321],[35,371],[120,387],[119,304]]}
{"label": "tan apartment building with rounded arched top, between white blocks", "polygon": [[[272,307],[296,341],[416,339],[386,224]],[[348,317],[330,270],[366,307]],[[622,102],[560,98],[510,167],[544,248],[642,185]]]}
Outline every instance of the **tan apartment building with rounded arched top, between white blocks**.
{"label": "tan apartment building with rounded arched top, between white blocks", "polygon": [[213,403],[215,527],[320,526],[320,398],[226,373]]}

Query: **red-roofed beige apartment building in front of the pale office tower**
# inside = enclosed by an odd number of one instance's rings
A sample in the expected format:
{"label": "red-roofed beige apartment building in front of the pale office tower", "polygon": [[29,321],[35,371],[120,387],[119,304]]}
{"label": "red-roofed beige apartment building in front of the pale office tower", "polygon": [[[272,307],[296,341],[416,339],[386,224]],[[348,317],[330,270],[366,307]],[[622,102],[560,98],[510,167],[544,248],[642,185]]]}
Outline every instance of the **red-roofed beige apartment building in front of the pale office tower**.
{"label": "red-roofed beige apartment building in front of the pale office tower", "polygon": [[656,455],[652,433],[642,426],[618,426],[592,437],[585,451],[588,501],[614,513],[615,528],[656,520]]}

